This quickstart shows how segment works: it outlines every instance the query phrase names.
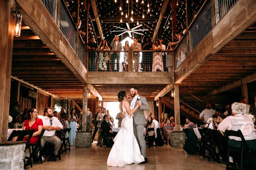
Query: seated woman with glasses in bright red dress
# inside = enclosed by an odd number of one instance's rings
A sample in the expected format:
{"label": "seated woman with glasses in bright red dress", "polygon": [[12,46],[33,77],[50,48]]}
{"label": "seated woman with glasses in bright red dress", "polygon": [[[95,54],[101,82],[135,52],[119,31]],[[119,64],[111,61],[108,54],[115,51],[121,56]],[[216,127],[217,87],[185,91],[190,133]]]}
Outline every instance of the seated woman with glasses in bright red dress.
{"label": "seated woman with glasses in bright red dress", "polygon": [[[33,108],[29,110],[29,114],[27,116],[27,120],[24,122],[23,130],[31,130],[34,129],[34,133],[30,139],[30,144],[34,145],[37,143],[38,135],[41,134],[43,129],[43,121],[42,119],[37,117],[37,109]],[[23,138],[23,141],[27,141],[27,136]]]}

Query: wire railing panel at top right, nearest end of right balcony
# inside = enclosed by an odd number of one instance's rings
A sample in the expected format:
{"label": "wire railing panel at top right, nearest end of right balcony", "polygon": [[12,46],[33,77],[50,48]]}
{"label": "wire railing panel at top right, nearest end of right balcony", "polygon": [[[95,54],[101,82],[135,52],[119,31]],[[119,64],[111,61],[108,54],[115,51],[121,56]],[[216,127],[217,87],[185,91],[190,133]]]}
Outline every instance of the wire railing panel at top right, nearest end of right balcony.
{"label": "wire railing panel at top right, nearest end of right balcony", "polygon": [[227,11],[229,11],[237,1],[238,0],[215,0],[215,6],[217,8],[217,22],[223,18]]}

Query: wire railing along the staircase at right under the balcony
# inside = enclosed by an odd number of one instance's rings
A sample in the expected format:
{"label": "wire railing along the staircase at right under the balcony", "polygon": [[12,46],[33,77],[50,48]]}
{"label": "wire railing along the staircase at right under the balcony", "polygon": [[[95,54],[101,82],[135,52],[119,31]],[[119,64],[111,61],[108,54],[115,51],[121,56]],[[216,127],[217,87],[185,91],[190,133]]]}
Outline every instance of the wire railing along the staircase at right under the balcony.
{"label": "wire railing along the staircase at right under the balcony", "polygon": [[179,101],[198,113],[205,109],[205,102],[191,94],[180,94]]}

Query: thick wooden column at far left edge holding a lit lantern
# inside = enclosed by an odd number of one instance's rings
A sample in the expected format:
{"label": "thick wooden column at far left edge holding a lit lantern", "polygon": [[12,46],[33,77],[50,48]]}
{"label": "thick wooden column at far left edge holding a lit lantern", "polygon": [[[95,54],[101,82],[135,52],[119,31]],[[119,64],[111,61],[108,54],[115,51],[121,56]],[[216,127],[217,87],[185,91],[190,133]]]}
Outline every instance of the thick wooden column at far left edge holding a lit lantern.
{"label": "thick wooden column at far left edge holding a lit lantern", "polygon": [[[13,54],[14,17],[11,8],[15,10],[13,0],[0,0],[0,142],[7,141],[8,116],[11,89],[11,60]],[[6,114],[7,113],[7,114]]]}

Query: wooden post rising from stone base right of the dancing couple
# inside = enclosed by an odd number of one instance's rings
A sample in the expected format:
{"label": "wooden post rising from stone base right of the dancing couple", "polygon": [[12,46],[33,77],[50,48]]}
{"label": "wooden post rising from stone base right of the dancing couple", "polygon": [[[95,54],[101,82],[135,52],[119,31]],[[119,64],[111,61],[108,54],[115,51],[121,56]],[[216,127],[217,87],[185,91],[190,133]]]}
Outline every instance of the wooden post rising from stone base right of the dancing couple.
{"label": "wooden post rising from stone base right of the dancing couple", "polygon": [[175,131],[181,131],[181,118],[179,113],[179,84],[174,84],[174,119]]}

